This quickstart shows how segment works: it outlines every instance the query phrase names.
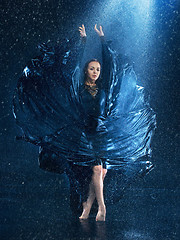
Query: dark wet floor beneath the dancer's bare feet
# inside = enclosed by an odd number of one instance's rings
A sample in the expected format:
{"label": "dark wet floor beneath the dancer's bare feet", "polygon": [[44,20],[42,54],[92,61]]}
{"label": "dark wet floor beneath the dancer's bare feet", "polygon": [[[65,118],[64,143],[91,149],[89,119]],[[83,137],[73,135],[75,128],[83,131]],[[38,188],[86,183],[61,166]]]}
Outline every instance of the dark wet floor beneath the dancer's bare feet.
{"label": "dark wet floor beneath the dancer's bare feet", "polygon": [[3,199],[1,239],[179,239],[179,192],[128,190],[118,204],[107,206],[105,223],[95,222],[95,215],[80,222],[66,197],[27,193],[23,199]]}

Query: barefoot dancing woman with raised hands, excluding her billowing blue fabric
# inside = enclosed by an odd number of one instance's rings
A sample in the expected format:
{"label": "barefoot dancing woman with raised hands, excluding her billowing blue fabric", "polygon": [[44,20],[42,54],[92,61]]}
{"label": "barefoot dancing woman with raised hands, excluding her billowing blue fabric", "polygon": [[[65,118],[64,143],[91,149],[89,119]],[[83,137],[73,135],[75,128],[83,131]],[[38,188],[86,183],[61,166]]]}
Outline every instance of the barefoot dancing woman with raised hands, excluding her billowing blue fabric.
{"label": "barefoot dancing woman with raised hands, excluding her billowing blue fabric", "polygon": [[[86,37],[84,25],[82,25],[82,27],[79,28],[79,31],[80,31],[81,37]],[[100,37],[104,36],[101,26],[100,26],[100,30],[98,30],[97,26],[95,25],[95,31],[98,33]],[[90,100],[89,105],[92,108],[87,113],[87,116],[90,118],[88,119],[90,124],[86,125],[86,131],[96,131],[97,120],[95,118],[98,117],[97,114],[99,112],[99,109],[97,108],[99,107],[99,103],[97,102],[94,104],[92,102],[95,101],[95,98],[97,98],[97,94],[99,91],[97,86],[97,80],[100,77],[100,72],[101,72],[101,64],[97,60],[91,60],[85,66],[84,91],[88,92],[86,94],[91,95],[89,96],[89,100]],[[98,202],[98,213],[96,216],[96,221],[105,221],[106,207],[105,207],[104,196],[103,196],[103,181],[107,173],[107,169],[103,168],[103,164],[101,161],[99,161],[98,165],[93,166],[92,169],[93,169],[93,175],[92,175],[92,181],[89,186],[88,198],[87,198],[87,201],[83,203],[83,212],[79,218],[80,219],[88,218],[92,204],[96,198]]]}

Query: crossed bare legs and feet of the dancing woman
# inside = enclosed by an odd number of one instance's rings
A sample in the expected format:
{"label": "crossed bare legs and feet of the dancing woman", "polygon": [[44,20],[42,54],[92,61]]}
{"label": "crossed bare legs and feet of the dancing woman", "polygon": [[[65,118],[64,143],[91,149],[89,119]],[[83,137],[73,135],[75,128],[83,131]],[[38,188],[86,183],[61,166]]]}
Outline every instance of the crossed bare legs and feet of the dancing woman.
{"label": "crossed bare legs and feet of the dancing woman", "polygon": [[[104,181],[104,178],[106,176],[106,173],[107,173],[107,170],[102,169],[101,165],[95,166],[93,168],[93,176],[92,176],[92,181],[91,181],[90,186],[89,186],[88,199],[87,199],[86,202],[83,203],[83,212],[82,212],[82,215],[79,217],[80,219],[87,219],[89,217],[91,207],[92,207],[93,202],[94,202],[95,197],[96,197],[96,192],[98,192],[98,194],[100,195],[99,196],[99,201],[100,201],[101,205],[98,202],[99,208],[98,208],[98,214],[97,214],[96,220],[97,221],[104,221],[105,220],[104,218],[103,218],[104,220],[101,220],[101,215],[102,215],[102,206],[103,206],[103,209],[105,209],[104,208],[105,207],[104,196],[103,196],[103,181]],[[95,192],[95,187],[97,188],[96,192]],[[99,188],[102,188],[102,189],[99,189]]]}

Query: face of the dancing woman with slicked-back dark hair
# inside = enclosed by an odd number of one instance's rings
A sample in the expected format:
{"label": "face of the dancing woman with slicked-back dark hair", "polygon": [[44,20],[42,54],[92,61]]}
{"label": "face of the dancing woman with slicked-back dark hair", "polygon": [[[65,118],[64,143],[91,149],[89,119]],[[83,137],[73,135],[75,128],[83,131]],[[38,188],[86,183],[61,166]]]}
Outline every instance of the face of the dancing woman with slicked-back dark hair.
{"label": "face of the dancing woman with slicked-back dark hair", "polygon": [[99,78],[101,72],[101,65],[99,62],[90,62],[87,67],[87,80],[95,83]]}

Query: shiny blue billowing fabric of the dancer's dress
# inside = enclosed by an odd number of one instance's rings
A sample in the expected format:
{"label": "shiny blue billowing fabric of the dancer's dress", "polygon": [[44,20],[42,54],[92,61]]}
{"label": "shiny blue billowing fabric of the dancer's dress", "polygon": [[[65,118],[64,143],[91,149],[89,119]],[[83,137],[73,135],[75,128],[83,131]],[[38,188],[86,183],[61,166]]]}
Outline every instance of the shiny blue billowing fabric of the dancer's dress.
{"label": "shiny blue billowing fabric of the dancer's dress", "polygon": [[[80,44],[71,39],[39,46],[41,55],[24,68],[13,99],[21,139],[40,146],[40,167],[66,172],[76,190],[78,183],[82,186],[77,175],[97,160],[113,170],[111,179],[117,175],[117,190],[119,173],[128,179],[152,167],[155,113],[132,66],[122,63],[104,38],[101,42],[102,75],[95,98],[85,90],[80,69],[85,39]],[[115,185],[108,184],[112,191],[107,199],[113,202]]]}

